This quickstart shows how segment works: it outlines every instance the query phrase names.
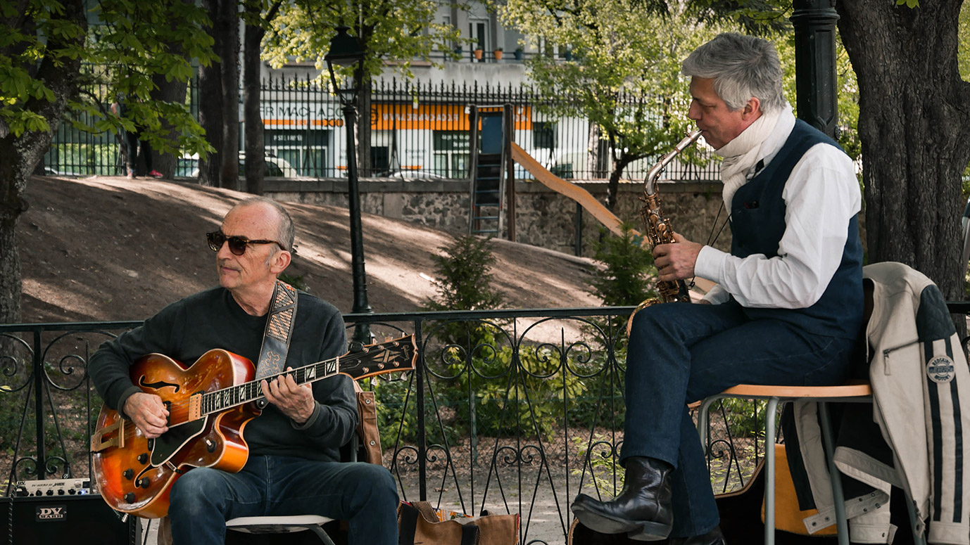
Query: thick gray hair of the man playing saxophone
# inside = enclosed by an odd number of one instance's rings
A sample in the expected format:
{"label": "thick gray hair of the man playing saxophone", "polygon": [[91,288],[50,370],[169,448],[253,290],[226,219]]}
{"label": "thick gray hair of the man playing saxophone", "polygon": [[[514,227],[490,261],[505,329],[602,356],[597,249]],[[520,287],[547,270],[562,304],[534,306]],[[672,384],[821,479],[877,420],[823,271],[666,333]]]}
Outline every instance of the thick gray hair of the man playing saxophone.
{"label": "thick gray hair of the man playing saxophone", "polygon": [[786,104],[778,52],[754,36],[719,34],[684,59],[681,71],[713,79],[715,92],[731,111],[744,108],[751,97],[758,98],[761,112],[775,112]]}

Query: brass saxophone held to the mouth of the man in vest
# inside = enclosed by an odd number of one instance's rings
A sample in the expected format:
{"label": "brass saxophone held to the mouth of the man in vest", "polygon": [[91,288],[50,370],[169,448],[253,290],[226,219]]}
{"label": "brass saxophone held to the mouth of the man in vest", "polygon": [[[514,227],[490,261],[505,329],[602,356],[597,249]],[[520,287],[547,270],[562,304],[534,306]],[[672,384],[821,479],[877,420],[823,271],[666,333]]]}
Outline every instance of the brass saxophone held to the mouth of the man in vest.
{"label": "brass saxophone held to the mouth of the man in vest", "polygon": [[[643,236],[650,241],[650,249],[653,250],[658,244],[669,244],[673,242],[673,228],[670,226],[670,218],[664,217],[661,211],[661,200],[657,194],[657,179],[663,174],[663,169],[667,163],[679,155],[687,146],[697,142],[700,138],[700,130],[687,135],[667,152],[661,160],[654,165],[643,180],[643,207],[640,208],[640,219],[643,220]],[[687,289],[687,282],[684,280],[658,280],[657,292],[659,298],[648,299],[636,306],[630,314],[630,321],[627,323],[627,335],[630,335],[630,326],[633,323],[633,316],[646,306],[658,303],[691,303],[691,295]]]}

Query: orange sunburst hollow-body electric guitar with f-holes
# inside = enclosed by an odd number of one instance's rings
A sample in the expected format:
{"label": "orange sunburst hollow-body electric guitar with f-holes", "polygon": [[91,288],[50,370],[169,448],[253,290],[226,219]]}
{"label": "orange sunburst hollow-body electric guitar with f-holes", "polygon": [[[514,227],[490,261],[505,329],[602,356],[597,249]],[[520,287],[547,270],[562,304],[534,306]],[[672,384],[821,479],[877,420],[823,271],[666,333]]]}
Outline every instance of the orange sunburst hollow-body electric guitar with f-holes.
{"label": "orange sunburst hollow-body electric guitar with f-holes", "polygon": [[[416,356],[414,336],[407,336],[284,372],[292,374],[297,384],[339,373],[357,380],[414,369]],[[206,352],[189,367],[161,354],[148,354],[135,362],[132,381],[165,403],[169,431],[149,439],[131,421],[103,405],[91,435],[94,477],[101,497],[116,511],[164,517],[172,485],[185,471],[193,467],[242,469],[249,456],[242,430],[261,412],[255,401],[264,399],[254,376],[249,360],[221,349]]]}

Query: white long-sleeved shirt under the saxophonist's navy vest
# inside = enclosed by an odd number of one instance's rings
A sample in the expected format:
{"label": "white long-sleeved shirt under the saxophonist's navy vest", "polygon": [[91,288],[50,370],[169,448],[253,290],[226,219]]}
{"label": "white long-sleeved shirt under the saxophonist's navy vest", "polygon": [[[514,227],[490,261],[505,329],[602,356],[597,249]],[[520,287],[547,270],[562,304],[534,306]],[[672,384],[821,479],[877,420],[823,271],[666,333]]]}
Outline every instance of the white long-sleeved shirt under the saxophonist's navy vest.
{"label": "white long-sleeved shirt under the saxophonist's navy vest", "polygon": [[[762,145],[763,165],[787,139],[785,135],[774,146]],[[747,173],[749,181],[755,169]],[[842,261],[849,221],[861,209],[852,160],[832,145],[815,144],[795,164],[782,199],[787,207],[785,234],[777,256],[740,258],[711,246],[701,248],[695,274],[717,282],[705,301],[725,303],[728,294],[749,307],[805,308],[819,301]]]}

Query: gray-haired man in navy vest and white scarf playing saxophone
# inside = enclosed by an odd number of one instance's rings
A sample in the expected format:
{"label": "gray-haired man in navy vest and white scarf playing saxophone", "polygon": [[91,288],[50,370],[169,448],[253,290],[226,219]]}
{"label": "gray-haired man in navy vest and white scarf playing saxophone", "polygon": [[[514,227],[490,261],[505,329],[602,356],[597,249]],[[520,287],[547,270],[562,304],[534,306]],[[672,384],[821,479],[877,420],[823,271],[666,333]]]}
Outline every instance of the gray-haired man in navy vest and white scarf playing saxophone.
{"label": "gray-haired man in navy vest and white scarf playing saxophone", "polygon": [[724,157],[730,253],[686,240],[654,248],[663,281],[717,282],[702,303],[651,305],[632,321],[626,481],[580,495],[585,526],[675,545],[725,543],[687,403],[741,383],[839,384],[862,326],[861,195],[852,160],[796,121],[770,43],[721,34],[682,64],[689,116]]}

